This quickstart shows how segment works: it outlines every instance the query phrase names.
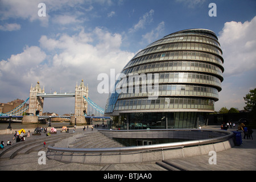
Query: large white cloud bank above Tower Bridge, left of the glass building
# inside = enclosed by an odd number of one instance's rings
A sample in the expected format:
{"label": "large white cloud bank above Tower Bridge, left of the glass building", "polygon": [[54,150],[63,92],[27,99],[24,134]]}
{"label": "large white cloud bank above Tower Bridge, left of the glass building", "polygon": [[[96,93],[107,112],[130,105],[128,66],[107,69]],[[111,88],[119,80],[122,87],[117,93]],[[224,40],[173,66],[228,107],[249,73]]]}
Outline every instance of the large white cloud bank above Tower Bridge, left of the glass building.
{"label": "large white cloud bank above Tower Bridge, left of the glass building", "polygon": [[76,82],[84,79],[85,84],[89,84],[89,97],[105,107],[108,94],[97,92],[97,85],[101,82],[97,81],[97,76],[100,73],[110,75],[110,69],[115,69],[115,74],[118,74],[134,56],[132,52],[121,50],[120,34],[111,34],[100,27],[91,32],[81,30],[71,36],[43,35],[39,42],[40,47],[26,47],[22,53],[0,61],[2,97],[9,96],[6,88],[20,90],[20,86],[23,92],[16,93],[16,97],[28,97],[31,83],[37,81],[45,85],[47,93],[50,89],[58,92],[60,87],[61,92],[74,92]]}

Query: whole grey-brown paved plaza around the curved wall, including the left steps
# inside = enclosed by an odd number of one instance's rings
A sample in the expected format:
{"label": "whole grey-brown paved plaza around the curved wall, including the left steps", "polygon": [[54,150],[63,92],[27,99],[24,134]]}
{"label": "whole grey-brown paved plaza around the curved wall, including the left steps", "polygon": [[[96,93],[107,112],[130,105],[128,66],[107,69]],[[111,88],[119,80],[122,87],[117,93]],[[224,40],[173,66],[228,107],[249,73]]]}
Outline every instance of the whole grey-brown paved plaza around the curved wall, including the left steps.
{"label": "whole grey-brown paved plaza around the curved wall, including the left steps", "polygon": [[[205,126],[202,129],[219,129],[220,126]],[[236,130],[236,129],[231,129]],[[52,134],[50,137],[42,134],[30,138],[26,138],[26,142],[38,141],[31,150],[21,148],[22,142],[16,143],[13,139],[13,134],[0,135],[1,140],[5,142],[4,150],[0,151],[0,170],[1,171],[167,171],[167,168],[161,167],[156,162],[151,163],[134,163],[134,164],[106,164],[103,166],[89,165],[80,163],[61,163],[56,160],[46,159],[46,164],[39,164],[38,151],[47,151],[47,147],[43,146],[43,141],[47,140],[47,144],[54,143],[57,140],[79,135],[81,133],[97,133],[97,129],[93,131],[83,131],[82,126],[76,129],[69,130],[69,133]],[[253,133],[254,137],[255,132]],[[243,134],[242,134],[243,138]],[[6,146],[7,140],[13,142],[12,146]],[[15,155],[2,154],[3,151],[15,145],[20,145],[20,151]],[[18,147],[17,147],[18,148]],[[23,152],[22,152],[23,150]],[[2,155],[1,155],[2,154]],[[11,158],[11,159],[10,159]],[[170,159],[167,162],[174,164],[188,171],[255,171],[256,170],[256,142],[250,139],[243,139],[241,146],[234,146],[229,150],[217,152],[217,164],[209,164],[209,155],[192,156],[188,158]]]}

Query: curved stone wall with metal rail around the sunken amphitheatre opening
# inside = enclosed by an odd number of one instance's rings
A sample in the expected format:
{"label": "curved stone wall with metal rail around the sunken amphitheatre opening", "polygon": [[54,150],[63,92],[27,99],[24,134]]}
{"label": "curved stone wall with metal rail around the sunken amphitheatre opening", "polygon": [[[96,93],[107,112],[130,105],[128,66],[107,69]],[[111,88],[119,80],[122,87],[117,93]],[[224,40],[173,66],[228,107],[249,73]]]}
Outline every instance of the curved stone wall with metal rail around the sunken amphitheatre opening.
{"label": "curved stone wall with metal rail around the sunken amphitheatre opening", "polygon": [[[112,138],[180,138],[184,142],[152,144],[150,146],[100,148],[94,140],[84,145],[87,148],[48,147],[47,157],[61,162],[87,164],[143,163],[172,158],[205,155],[209,151],[223,151],[234,146],[233,133],[224,130],[98,130]],[[98,135],[98,134],[96,134]],[[100,136],[100,135],[98,135]],[[92,136],[91,136],[92,137]],[[103,138],[103,137],[102,137]],[[101,137],[98,138],[100,140]],[[191,140],[192,139],[192,140]],[[93,143],[94,142],[94,143]],[[94,146],[93,146],[94,144]],[[93,148],[93,147],[97,148]],[[82,147],[82,145],[81,145]],[[90,147],[90,148],[88,148]]]}

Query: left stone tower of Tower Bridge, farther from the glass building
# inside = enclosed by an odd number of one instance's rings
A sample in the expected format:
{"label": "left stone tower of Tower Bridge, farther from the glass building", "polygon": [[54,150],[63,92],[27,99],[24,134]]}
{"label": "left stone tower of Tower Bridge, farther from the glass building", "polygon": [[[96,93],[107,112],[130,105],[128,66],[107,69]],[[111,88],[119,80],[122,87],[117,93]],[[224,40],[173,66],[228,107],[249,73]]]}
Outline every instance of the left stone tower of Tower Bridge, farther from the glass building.
{"label": "left stone tower of Tower Bridge, farther from the glass building", "polygon": [[43,115],[43,105],[44,98],[36,97],[36,94],[44,93],[44,88],[40,87],[39,81],[37,82],[35,87],[30,88],[30,104],[28,108],[28,113],[30,115]]}

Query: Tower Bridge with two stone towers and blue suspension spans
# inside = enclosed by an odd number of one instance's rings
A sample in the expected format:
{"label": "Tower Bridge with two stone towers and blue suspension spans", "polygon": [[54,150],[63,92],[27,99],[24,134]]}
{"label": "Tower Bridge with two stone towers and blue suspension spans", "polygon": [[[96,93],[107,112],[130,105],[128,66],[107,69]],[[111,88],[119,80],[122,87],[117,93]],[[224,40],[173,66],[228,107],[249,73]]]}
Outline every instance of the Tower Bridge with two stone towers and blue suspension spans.
{"label": "Tower Bridge with two stone towers and blue suspension spans", "polygon": [[[44,98],[52,98],[52,97],[75,97],[75,113],[71,116],[60,116],[61,118],[70,118],[71,124],[77,123],[85,124],[86,118],[92,118],[92,116],[88,115],[88,109],[96,111],[97,114],[94,114],[93,118],[105,118],[109,119],[109,117],[102,116],[104,114],[104,109],[95,104],[88,97],[89,88],[88,85],[84,85],[84,81],[81,81],[80,85],[76,84],[75,92],[73,93],[46,93],[41,88],[39,82],[37,82],[36,86],[32,86],[30,88],[30,97],[27,98],[26,101],[23,102],[20,106],[16,107],[14,110],[9,113],[0,113],[1,117],[15,117],[17,115],[22,115],[25,111],[26,115],[22,118],[22,123],[37,123],[41,119],[49,118],[49,116],[43,116],[43,105]],[[23,105],[29,100],[29,105],[24,107]]]}

